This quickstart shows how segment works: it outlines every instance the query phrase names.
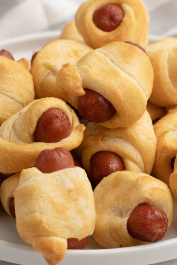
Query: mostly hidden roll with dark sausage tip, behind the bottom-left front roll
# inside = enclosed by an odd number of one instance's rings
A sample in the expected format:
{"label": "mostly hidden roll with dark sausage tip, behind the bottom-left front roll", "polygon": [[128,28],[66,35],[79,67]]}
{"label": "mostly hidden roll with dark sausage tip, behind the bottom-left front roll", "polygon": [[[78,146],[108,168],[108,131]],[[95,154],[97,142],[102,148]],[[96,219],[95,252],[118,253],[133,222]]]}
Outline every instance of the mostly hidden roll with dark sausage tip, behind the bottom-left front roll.
{"label": "mostly hidden roll with dark sausage tip, behind the bottom-left front roll", "polygon": [[2,206],[9,216],[15,219],[14,213],[14,191],[18,187],[20,179],[20,172],[7,177],[1,184],[0,187],[0,199]]}

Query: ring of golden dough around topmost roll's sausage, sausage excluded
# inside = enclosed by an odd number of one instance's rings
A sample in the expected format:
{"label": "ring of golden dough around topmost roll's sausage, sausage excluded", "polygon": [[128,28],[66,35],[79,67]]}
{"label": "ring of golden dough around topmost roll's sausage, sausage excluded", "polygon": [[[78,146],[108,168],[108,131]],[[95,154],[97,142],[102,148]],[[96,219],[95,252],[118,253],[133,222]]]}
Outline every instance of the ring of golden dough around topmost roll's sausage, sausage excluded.
{"label": "ring of golden dough around topmost roll's sausage, sausage excluded", "polygon": [[[93,22],[96,9],[105,4],[115,4],[124,11],[120,25],[110,32],[100,30]],[[148,44],[149,14],[141,0],[89,0],[84,2],[75,16],[76,27],[85,42],[94,49],[112,41],[132,41]]]}

